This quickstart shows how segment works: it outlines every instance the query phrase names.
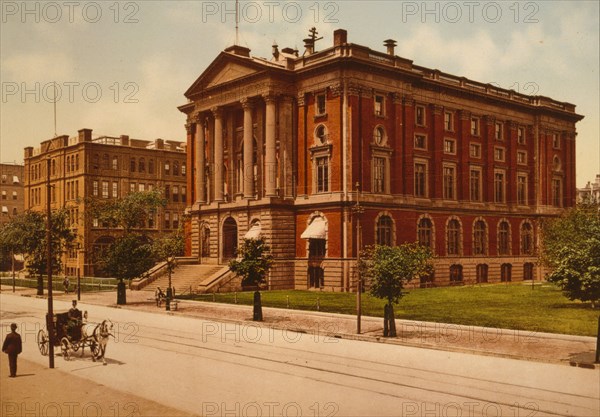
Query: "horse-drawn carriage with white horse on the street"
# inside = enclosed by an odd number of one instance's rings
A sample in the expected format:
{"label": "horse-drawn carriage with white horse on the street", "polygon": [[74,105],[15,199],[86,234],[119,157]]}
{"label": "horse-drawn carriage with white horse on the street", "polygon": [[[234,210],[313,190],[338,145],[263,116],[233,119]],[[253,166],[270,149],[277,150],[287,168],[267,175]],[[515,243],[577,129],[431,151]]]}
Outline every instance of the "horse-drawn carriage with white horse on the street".
{"label": "horse-drawn carriage with white horse on the street", "polygon": [[[48,320],[48,315],[46,315]],[[108,337],[111,335],[113,324],[106,319],[102,323],[87,323],[87,311],[81,315],[79,310],[75,313],[57,313],[52,316],[53,321],[53,345],[60,346],[62,356],[65,360],[69,360],[73,352],[81,349],[81,356],[85,347],[89,347],[92,352],[92,360],[102,359],[106,365],[104,354],[106,352],[106,344]],[[46,323],[49,323],[48,321]],[[50,344],[50,335],[46,329],[40,329],[37,335],[38,348],[42,355],[48,354],[48,346]]]}

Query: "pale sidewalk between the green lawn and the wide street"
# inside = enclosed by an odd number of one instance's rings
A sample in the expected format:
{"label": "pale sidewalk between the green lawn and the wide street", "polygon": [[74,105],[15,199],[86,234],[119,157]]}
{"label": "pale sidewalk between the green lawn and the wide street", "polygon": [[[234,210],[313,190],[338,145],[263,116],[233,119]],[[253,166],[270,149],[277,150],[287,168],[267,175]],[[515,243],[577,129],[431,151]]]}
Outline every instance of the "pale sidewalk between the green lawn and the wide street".
{"label": "pale sidewalk between the green lawn and the wide street", "polygon": [[[2,293],[12,293],[2,286]],[[24,296],[35,296],[34,289],[18,289]],[[54,293],[57,299],[70,300],[75,294]],[[356,333],[356,316],[263,307],[264,321],[252,321],[252,306],[178,300],[177,310],[159,308],[153,294],[147,291],[127,291],[127,305],[116,305],[114,292],[83,293],[81,302],[182,315],[224,323],[263,326],[280,330],[315,334],[319,337],[343,338],[366,342],[391,343],[428,349],[492,355],[520,360],[560,363],[584,368],[600,368],[594,364],[596,338],[523,330],[461,326],[396,320],[398,337],[383,337],[383,319],[362,317],[361,333]]]}

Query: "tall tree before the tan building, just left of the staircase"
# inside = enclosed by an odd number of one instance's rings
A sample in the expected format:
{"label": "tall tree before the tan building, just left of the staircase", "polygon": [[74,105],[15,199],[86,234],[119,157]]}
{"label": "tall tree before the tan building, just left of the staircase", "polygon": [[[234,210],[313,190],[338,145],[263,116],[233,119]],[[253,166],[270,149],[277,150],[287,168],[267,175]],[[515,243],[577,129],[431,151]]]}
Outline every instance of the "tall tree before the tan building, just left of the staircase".
{"label": "tall tree before the tan building, just left of the staircase", "polygon": [[152,190],[130,193],[121,199],[89,199],[87,203],[90,219],[122,230],[122,236],[99,254],[98,264],[105,273],[119,279],[117,304],[126,304],[123,280],[136,278],[154,265],[154,253],[144,229],[146,222],[167,202],[162,191]]}

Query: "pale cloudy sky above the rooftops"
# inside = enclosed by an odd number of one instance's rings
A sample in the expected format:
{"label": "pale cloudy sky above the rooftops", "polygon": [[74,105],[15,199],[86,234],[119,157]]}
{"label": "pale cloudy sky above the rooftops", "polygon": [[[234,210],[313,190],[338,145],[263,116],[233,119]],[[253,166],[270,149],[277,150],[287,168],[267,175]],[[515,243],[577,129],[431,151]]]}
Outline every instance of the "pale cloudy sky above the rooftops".
{"label": "pale cloudy sky above the rooftops", "polygon": [[[235,1],[5,1],[0,162],[57,135],[185,141],[184,92],[236,42]],[[240,1],[254,56],[302,50],[316,27],[348,41],[515,91],[575,104],[577,186],[600,174],[599,2]],[[55,88],[56,86],[56,88]],[[56,129],[54,92],[56,91]]]}

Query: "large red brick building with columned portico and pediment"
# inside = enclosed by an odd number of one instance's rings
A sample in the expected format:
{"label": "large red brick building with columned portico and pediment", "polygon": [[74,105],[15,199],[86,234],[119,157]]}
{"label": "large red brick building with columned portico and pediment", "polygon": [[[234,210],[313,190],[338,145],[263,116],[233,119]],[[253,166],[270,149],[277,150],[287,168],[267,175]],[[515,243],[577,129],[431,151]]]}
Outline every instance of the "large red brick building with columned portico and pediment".
{"label": "large red brick building with columned portico and pediment", "polygon": [[361,247],[432,249],[423,286],[541,279],[539,220],[576,198],[575,106],[418,66],[393,40],[317,40],[229,47],[186,91],[191,254],[225,263],[264,236],[269,288],[352,290],[360,219]]}

